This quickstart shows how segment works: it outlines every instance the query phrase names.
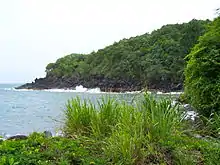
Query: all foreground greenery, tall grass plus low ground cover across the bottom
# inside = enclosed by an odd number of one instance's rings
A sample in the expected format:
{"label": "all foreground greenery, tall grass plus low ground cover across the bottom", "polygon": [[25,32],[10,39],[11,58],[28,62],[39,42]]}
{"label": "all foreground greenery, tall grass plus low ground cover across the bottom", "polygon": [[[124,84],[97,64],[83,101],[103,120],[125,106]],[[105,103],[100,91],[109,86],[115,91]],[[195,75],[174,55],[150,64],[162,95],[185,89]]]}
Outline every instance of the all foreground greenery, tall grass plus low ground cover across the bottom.
{"label": "all foreground greenery, tall grass plus low ground cover across the bottom", "polygon": [[0,142],[0,164],[219,163],[219,140],[198,138],[196,127],[170,100],[145,95],[133,104],[103,99],[95,106],[74,99],[64,122],[64,137],[34,133],[26,140]]}

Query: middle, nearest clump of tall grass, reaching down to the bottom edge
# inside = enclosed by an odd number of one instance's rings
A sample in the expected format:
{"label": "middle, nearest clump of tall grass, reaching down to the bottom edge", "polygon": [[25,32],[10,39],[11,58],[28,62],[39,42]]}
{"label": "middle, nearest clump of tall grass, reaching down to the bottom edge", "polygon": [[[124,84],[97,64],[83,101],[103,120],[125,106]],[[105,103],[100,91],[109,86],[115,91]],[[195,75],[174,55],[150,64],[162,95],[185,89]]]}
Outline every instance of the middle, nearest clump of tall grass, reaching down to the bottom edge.
{"label": "middle, nearest clump of tall grass, reaching down to the bottom edge", "polygon": [[113,162],[133,164],[144,157],[146,135],[143,114],[137,109],[125,106],[120,122],[107,139],[104,151]]}

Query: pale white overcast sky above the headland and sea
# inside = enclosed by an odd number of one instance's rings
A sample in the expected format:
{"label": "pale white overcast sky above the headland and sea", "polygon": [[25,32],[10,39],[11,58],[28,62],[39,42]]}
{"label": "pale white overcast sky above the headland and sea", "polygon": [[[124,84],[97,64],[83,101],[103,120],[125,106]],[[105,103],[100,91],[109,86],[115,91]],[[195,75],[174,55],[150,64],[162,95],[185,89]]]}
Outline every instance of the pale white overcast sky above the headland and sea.
{"label": "pale white overcast sky above the headland and sea", "polygon": [[165,24],[213,19],[220,0],[0,0],[0,83],[31,82],[50,62]]}

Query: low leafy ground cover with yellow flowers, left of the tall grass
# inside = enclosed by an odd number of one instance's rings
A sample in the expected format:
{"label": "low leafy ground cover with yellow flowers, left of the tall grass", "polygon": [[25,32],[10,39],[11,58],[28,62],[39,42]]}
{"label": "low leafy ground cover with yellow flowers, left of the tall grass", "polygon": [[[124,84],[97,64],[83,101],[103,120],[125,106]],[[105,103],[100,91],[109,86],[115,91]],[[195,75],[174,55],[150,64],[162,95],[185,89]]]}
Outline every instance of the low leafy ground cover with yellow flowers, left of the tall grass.
{"label": "low leafy ground cover with yellow flowers, left of the tall grass", "polygon": [[33,133],[27,140],[0,142],[1,165],[69,165],[105,164],[96,155],[83,148],[80,141],[63,137],[46,138]]}

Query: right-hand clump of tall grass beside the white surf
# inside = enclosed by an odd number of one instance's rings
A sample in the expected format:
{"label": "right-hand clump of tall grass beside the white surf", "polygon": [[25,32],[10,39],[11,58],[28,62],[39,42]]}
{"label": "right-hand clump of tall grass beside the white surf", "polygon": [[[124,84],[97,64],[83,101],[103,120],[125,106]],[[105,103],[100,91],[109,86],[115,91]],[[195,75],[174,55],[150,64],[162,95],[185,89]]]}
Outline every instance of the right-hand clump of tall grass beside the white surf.
{"label": "right-hand clump of tall grass beside the white surf", "polygon": [[140,107],[149,140],[158,141],[182,133],[185,114],[177,104],[172,105],[171,100],[155,100],[153,96],[145,95]]}

